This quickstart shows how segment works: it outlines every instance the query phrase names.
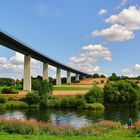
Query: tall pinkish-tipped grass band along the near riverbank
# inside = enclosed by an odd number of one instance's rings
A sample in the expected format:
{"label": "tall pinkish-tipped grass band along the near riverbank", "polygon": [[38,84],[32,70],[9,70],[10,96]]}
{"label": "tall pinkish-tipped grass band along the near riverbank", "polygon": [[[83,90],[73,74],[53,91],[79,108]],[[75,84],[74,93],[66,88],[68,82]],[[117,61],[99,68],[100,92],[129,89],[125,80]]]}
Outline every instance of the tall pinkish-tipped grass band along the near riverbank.
{"label": "tall pinkish-tipped grass band along the near riverbank", "polygon": [[[118,127],[119,126],[119,127]],[[112,129],[113,128],[113,129]],[[104,135],[114,129],[121,128],[120,123],[107,121],[101,124],[75,128],[71,125],[53,125],[33,120],[17,120],[0,118],[0,131],[16,134],[47,134],[47,135]]]}

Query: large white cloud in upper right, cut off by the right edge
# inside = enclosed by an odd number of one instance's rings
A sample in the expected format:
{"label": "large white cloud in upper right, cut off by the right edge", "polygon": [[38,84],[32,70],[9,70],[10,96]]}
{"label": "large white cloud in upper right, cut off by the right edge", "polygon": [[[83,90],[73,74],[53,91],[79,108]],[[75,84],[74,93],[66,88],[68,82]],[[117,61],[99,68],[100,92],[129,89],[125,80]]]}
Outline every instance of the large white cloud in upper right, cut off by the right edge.
{"label": "large white cloud in upper right, cut off by the right edge", "polygon": [[130,6],[128,9],[123,9],[119,14],[112,15],[105,20],[111,24],[121,24],[128,30],[140,29],[140,7]]}

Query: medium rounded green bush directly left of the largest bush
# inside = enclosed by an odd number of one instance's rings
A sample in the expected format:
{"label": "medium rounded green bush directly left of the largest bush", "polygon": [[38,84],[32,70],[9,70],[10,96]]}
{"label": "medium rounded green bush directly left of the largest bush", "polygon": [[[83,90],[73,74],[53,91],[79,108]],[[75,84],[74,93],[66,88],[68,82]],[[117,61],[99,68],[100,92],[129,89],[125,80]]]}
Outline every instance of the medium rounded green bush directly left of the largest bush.
{"label": "medium rounded green bush directly left of the largest bush", "polygon": [[85,100],[87,103],[102,103],[103,102],[103,90],[99,87],[95,87],[85,94]]}

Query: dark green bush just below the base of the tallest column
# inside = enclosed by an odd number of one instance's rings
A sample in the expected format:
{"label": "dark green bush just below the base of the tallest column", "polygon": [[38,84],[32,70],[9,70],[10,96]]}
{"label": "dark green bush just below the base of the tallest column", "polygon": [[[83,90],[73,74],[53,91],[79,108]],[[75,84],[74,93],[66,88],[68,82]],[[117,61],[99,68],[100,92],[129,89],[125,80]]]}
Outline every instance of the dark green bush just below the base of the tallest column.
{"label": "dark green bush just below the base of the tallest column", "polygon": [[29,106],[32,104],[38,104],[39,103],[39,95],[38,92],[30,92],[28,93],[25,98],[23,98],[23,101],[26,102]]}

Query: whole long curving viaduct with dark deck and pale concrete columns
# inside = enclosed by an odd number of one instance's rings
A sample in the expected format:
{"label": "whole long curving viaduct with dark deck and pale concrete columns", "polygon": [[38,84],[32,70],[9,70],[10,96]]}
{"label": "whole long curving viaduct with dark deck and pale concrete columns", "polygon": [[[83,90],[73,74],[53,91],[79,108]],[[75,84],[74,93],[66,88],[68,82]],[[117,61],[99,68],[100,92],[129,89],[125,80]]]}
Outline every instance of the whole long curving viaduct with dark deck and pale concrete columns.
{"label": "whole long curving viaduct with dark deck and pale concrete columns", "polygon": [[34,50],[24,44],[23,42],[15,39],[8,33],[0,29],[0,45],[12,49],[24,55],[24,82],[23,90],[31,90],[31,58],[43,62],[43,79],[48,80],[48,65],[57,68],[56,70],[56,84],[61,85],[61,69],[67,71],[67,83],[71,83],[71,73],[76,74],[76,81],[79,81],[79,76],[91,77],[90,74],[81,72],[79,70],[68,67],[50,57]]}

